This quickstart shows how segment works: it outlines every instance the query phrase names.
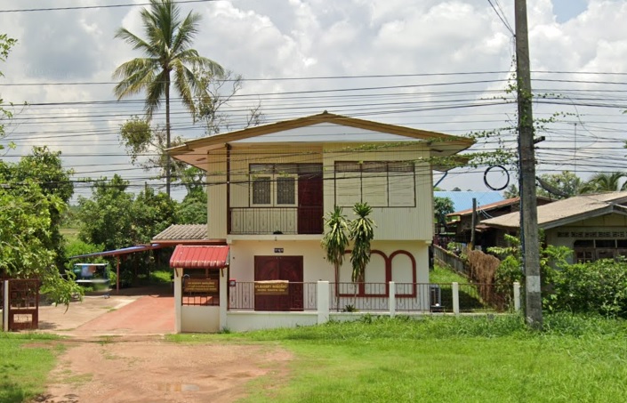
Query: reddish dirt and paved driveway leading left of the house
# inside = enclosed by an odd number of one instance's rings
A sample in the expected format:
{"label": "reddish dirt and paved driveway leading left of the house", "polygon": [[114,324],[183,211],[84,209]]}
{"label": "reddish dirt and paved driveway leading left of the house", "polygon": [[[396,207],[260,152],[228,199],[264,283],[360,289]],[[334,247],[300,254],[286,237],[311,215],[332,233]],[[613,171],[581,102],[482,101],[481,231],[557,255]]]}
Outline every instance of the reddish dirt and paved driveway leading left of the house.
{"label": "reddish dirt and paved driveway leading left of the house", "polygon": [[41,331],[68,338],[38,402],[230,402],[260,376],[285,381],[291,359],[269,346],[166,342],[167,293],[89,297],[67,312],[41,307],[39,318]]}

